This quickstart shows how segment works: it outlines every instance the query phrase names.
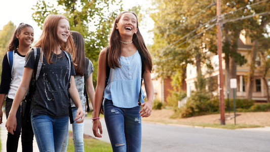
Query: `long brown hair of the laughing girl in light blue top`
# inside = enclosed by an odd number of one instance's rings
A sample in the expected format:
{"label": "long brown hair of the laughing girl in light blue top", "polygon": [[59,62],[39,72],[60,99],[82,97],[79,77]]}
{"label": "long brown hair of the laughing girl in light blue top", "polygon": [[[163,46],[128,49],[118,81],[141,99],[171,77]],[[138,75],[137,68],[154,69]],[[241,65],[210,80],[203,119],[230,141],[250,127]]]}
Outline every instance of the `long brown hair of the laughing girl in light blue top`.
{"label": "long brown hair of the laughing girl in light blue top", "polygon": [[143,66],[144,67],[147,66],[149,68],[149,70],[151,71],[152,70],[152,58],[151,58],[149,51],[146,48],[143,37],[140,33],[139,24],[138,24],[138,17],[137,17],[137,14],[135,12],[123,12],[115,19],[115,21],[113,23],[113,28],[112,28],[112,31],[110,34],[108,65],[110,68],[113,68],[113,69],[115,67],[120,68],[120,66],[121,66],[121,63],[118,60],[118,58],[121,55],[121,45],[119,42],[120,33],[119,33],[119,30],[116,29],[116,27],[117,27],[117,23],[121,19],[121,16],[125,13],[132,13],[136,17],[138,31],[137,31],[137,33],[133,34],[132,41],[133,41],[133,44],[135,45],[135,47],[138,49],[138,51],[141,51],[142,55],[144,56],[144,65]]}

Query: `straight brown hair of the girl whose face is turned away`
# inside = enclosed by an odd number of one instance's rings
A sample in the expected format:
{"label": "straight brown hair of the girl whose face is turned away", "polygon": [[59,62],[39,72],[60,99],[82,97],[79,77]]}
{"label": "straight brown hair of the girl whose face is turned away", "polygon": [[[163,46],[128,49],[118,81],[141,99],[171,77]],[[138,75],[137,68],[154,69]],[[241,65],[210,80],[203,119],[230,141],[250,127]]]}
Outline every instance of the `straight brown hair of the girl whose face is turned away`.
{"label": "straight brown hair of the girl whose face is turned away", "polygon": [[74,63],[77,66],[74,66],[76,75],[81,75],[82,77],[85,75],[85,42],[84,37],[81,33],[77,31],[70,31],[72,35],[72,39],[76,48],[76,57],[74,59]]}

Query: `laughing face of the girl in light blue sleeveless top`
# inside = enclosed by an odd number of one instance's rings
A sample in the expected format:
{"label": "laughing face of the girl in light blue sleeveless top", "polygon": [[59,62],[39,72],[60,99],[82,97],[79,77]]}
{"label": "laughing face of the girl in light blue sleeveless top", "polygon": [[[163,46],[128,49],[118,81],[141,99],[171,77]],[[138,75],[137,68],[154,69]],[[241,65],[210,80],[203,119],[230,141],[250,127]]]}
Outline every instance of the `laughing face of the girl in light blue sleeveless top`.
{"label": "laughing face of the girl in light blue sleeveless top", "polygon": [[116,25],[115,28],[119,30],[121,36],[132,36],[138,31],[137,18],[132,13],[124,13]]}

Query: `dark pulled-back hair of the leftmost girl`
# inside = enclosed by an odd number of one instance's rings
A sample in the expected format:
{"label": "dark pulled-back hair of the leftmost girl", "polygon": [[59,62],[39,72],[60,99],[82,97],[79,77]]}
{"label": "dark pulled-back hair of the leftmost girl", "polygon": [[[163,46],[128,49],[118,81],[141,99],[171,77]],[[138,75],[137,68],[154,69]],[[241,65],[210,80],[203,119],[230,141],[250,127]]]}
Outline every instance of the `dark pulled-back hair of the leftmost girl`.
{"label": "dark pulled-back hair of the leftmost girl", "polygon": [[15,30],[15,32],[13,33],[13,36],[11,37],[10,43],[8,45],[8,50],[6,51],[5,54],[8,53],[8,51],[14,51],[16,49],[18,49],[19,47],[19,39],[17,38],[16,34],[20,34],[21,31],[25,28],[25,27],[31,27],[33,29],[33,27],[29,24],[25,24],[25,23],[20,23],[18,28]]}

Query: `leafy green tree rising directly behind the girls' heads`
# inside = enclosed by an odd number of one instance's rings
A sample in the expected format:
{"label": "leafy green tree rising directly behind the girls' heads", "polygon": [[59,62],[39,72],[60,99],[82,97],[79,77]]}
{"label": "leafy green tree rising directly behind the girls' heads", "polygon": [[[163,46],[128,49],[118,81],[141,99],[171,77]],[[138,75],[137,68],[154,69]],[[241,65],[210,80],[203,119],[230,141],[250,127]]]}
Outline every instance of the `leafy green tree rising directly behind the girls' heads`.
{"label": "leafy green tree rising directly behind the girls' heads", "polygon": [[[51,1],[53,2],[53,1]],[[69,20],[70,30],[80,32],[84,36],[86,56],[97,69],[99,52],[108,45],[109,32],[114,19],[123,11],[122,1],[114,0],[56,0],[57,6],[38,0],[32,10],[32,18],[38,26],[44,23],[49,14],[62,14]],[[117,5],[116,10],[112,10]],[[89,28],[92,27],[94,29]],[[96,86],[97,70],[93,72]]]}

